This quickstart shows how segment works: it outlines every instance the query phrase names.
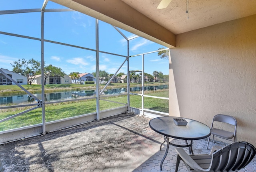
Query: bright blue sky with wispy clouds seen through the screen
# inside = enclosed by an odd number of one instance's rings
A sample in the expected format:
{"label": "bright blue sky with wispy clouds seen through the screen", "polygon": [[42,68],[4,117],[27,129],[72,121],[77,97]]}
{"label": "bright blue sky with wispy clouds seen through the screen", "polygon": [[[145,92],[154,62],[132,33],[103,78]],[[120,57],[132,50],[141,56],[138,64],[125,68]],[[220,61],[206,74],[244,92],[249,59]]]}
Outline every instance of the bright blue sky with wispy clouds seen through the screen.
{"label": "bright blue sky with wispy clouds seen through the screen", "polygon": [[[43,0],[0,0],[1,10],[41,8]],[[66,8],[49,1],[46,9]],[[96,49],[95,18],[80,12],[45,12],[44,39],[76,46]],[[0,15],[0,31],[41,38],[40,12]],[[131,38],[134,34],[120,29]],[[144,38],[130,41],[130,55],[155,51],[164,47]],[[116,29],[99,21],[99,49],[110,53],[127,55],[127,42]],[[86,49],[69,47],[55,43],[44,43],[44,61],[60,67],[66,74],[70,72],[92,73],[96,71],[96,53]],[[18,38],[0,34],[0,67],[12,71],[10,63],[18,59],[41,60],[41,43],[38,40]],[[100,70],[115,73],[125,61],[125,57],[100,53]],[[130,70],[142,69],[142,56],[130,57]],[[168,60],[160,59],[157,53],[144,56],[144,72],[162,71],[168,75]],[[118,73],[127,73],[127,63]]]}

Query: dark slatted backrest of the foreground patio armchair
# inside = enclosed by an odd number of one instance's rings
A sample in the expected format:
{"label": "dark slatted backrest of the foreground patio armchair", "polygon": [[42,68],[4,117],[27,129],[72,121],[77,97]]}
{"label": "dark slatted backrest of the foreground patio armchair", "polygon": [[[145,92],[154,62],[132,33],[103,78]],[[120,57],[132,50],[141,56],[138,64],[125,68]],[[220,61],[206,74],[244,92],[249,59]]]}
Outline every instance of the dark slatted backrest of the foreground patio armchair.
{"label": "dark slatted backrest of the foreground patio armchair", "polygon": [[212,154],[210,172],[237,172],[251,162],[256,148],[248,142],[233,142]]}

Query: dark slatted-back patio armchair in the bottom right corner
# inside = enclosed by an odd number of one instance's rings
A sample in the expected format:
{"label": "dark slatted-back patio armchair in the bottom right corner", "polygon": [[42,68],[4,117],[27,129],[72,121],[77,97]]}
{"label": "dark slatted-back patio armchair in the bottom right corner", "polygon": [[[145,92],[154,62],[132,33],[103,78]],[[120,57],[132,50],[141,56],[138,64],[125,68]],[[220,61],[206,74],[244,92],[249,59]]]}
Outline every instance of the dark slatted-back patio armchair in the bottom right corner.
{"label": "dark slatted-back patio armchair in the bottom right corner", "polygon": [[183,148],[176,148],[176,151],[175,172],[178,171],[180,160],[190,172],[237,172],[249,164],[256,154],[256,148],[248,142],[233,142],[212,155],[190,155]]}

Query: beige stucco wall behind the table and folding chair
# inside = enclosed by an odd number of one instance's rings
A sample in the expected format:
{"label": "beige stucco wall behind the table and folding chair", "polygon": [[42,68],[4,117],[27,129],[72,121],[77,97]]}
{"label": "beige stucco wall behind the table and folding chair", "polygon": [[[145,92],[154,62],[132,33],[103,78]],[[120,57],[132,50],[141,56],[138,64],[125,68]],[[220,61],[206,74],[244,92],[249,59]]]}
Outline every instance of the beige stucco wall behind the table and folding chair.
{"label": "beige stucco wall behind the table and folding chair", "polygon": [[214,115],[232,115],[237,140],[256,146],[256,15],[179,34],[170,55],[170,114],[178,101],[177,116],[209,127]]}

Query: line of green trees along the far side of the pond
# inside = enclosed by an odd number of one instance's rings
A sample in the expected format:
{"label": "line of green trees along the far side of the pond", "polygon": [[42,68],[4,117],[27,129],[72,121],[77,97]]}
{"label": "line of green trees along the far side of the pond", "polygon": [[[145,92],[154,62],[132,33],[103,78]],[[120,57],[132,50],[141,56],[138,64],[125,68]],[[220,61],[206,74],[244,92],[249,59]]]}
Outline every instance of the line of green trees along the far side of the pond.
{"label": "line of green trees along the far side of the pond", "polygon": [[[164,48],[159,48],[160,49],[164,49]],[[169,59],[169,51],[167,50],[163,50],[163,51],[159,51],[158,52],[158,56],[160,56],[161,59]],[[27,77],[28,79],[28,83],[29,85],[32,84],[32,82],[34,81],[34,79],[36,78],[36,75],[40,75],[41,74],[41,62],[40,61],[36,61],[35,59],[30,59],[30,60],[26,60],[26,59],[19,59],[18,61],[14,61],[14,64],[11,63],[13,69],[12,71],[15,73],[18,73],[20,75],[24,75]],[[72,72],[70,73],[68,76],[70,76],[72,79],[75,80],[76,83],[76,79],[78,80],[80,78],[79,76],[79,72]],[[93,72],[92,75],[94,75],[94,77],[96,77],[96,73]],[[108,74],[106,71],[99,71],[99,79],[100,79],[100,83],[104,80],[104,81],[109,81],[109,79],[111,79],[111,77],[114,74]],[[118,80],[120,80],[120,78],[122,77],[122,75],[125,75],[124,73],[118,73],[116,75],[116,77],[118,77]],[[132,83],[136,83],[136,82],[141,82],[141,75],[142,73],[130,73],[130,82]],[[44,84],[46,84],[46,79],[50,76],[59,76],[59,77],[64,77],[66,76],[66,73],[64,73],[64,71],[62,71],[62,69],[55,67],[53,65],[44,65]],[[125,81],[126,79],[126,81]],[[124,82],[127,82],[127,76],[124,79]],[[148,74],[148,73],[144,73],[144,82],[161,82],[161,81],[168,81],[168,75],[163,75],[163,73],[161,71],[154,71],[152,73],[152,75]]]}

